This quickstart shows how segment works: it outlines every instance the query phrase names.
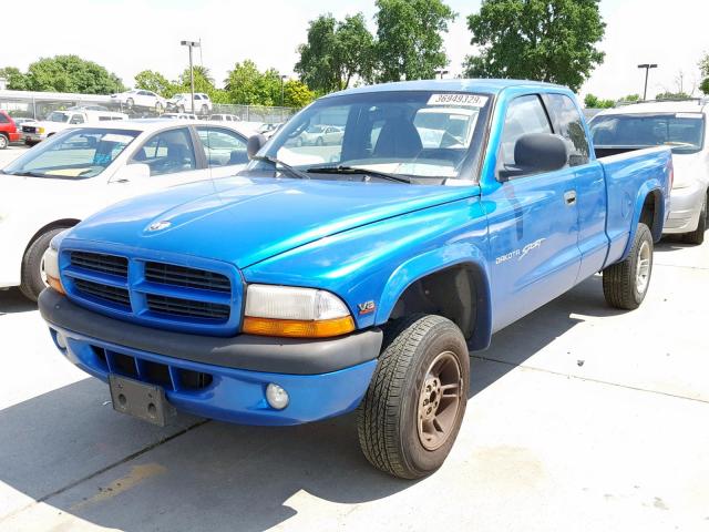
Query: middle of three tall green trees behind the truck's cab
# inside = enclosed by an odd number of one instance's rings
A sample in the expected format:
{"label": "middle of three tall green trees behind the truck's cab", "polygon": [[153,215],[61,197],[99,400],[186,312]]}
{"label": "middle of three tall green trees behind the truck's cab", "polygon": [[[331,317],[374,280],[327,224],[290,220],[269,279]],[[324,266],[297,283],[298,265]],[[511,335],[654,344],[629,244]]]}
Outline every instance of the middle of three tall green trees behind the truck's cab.
{"label": "middle of three tall green trees behind the truck's cab", "polygon": [[379,81],[432,79],[448,64],[442,33],[456,13],[441,0],[377,0]]}

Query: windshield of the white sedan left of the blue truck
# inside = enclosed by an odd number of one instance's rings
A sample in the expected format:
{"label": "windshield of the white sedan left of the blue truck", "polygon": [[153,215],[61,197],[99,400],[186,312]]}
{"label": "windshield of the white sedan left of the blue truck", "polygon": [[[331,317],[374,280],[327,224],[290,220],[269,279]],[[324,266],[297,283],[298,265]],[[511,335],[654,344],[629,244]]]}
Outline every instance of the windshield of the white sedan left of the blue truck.
{"label": "windshield of the white sedan left of the blue truck", "polygon": [[10,163],[4,174],[83,180],[101,174],[140,131],[102,127],[66,130]]}

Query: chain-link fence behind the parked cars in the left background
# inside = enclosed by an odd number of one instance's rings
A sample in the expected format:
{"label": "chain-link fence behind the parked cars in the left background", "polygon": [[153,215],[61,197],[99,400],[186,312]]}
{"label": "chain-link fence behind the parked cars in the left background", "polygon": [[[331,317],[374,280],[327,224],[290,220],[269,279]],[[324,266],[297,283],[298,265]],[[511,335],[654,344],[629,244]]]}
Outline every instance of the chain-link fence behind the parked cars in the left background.
{"label": "chain-link fence behind the parked cars in the left background", "polygon": [[[0,109],[13,117],[44,120],[53,111],[83,109],[93,111],[117,111],[131,119],[146,119],[162,114],[164,110],[155,110],[140,105],[127,106],[119,99],[106,95],[71,94],[59,92],[25,92],[0,90]],[[263,105],[234,105],[215,103],[212,111],[199,114],[208,119],[212,114],[233,114],[244,122],[281,123],[286,122],[297,110],[292,108],[268,108]]]}

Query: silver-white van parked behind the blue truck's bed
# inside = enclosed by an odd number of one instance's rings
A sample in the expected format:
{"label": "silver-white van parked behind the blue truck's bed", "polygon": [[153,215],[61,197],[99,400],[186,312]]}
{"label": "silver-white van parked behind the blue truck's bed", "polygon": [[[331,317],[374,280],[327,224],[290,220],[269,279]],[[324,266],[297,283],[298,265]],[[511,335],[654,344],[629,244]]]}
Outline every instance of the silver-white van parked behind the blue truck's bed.
{"label": "silver-white van parked behind the blue truck's bed", "polygon": [[675,181],[665,234],[681,234],[701,244],[709,202],[709,104],[701,101],[653,102],[609,109],[594,116],[590,131],[596,151],[668,145]]}

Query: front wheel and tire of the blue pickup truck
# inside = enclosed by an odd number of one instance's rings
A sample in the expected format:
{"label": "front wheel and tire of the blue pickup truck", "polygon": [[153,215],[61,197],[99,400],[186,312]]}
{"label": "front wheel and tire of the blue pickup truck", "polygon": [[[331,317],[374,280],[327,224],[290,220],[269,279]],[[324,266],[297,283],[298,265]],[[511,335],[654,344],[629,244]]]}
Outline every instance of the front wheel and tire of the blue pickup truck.
{"label": "front wheel and tire of the blue pickup truck", "polygon": [[[390,324],[358,410],[359,443],[367,460],[400,479],[434,472],[455,442],[469,388],[470,356],[455,324],[433,315]],[[435,430],[436,420],[444,431]]]}

